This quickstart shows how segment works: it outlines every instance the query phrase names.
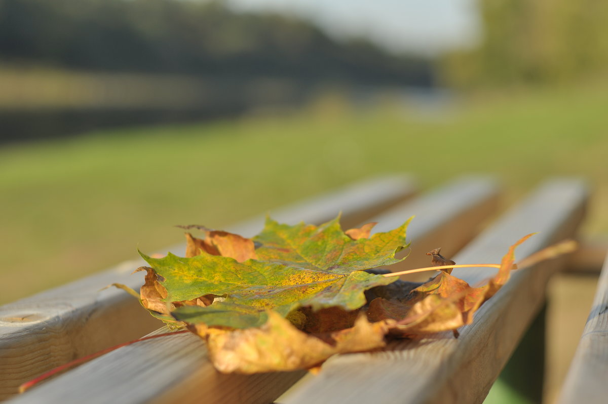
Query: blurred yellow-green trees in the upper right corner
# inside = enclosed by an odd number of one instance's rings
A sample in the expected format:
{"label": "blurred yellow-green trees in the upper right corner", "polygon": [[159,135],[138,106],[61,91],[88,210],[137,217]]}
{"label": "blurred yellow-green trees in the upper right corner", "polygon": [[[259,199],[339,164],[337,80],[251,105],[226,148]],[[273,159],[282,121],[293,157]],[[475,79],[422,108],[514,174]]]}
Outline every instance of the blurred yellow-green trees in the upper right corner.
{"label": "blurred yellow-green trees in the upper right corner", "polygon": [[608,72],[608,1],[478,0],[475,49],[444,55],[457,87],[556,84]]}

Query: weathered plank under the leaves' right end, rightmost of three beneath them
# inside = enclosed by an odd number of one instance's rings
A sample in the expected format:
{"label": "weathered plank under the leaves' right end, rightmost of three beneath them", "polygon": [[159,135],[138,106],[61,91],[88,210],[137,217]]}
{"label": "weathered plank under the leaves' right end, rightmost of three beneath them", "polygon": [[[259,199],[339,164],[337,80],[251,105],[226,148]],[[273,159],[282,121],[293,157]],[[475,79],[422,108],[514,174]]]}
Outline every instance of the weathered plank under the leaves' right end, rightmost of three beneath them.
{"label": "weathered plank under the leaves' right end, rightmost of three beneath them", "polygon": [[[518,248],[523,258],[575,233],[587,199],[575,180],[548,183],[454,258],[461,263],[499,262],[508,246],[541,231]],[[295,391],[289,403],[481,403],[544,301],[551,273],[565,259],[513,272],[511,280],[480,308],[475,321],[450,334],[404,340],[373,354],[331,358],[319,377]],[[475,284],[493,271],[468,268],[454,275]]]}

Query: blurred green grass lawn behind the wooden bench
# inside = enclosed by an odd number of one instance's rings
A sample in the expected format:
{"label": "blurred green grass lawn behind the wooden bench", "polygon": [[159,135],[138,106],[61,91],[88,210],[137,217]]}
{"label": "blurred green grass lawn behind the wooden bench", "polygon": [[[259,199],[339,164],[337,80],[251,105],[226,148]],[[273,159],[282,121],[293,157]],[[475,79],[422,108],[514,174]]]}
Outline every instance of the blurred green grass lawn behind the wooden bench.
{"label": "blurred green grass lawn behind the wooden bench", "polygon": [[[0,150],[0,303],[362,177],[499,177],[514,200],[550,176],[594,188],[587,233],[608,232],[608,85],[472,95],[435,115],[339,95],[301,111],[116,129]],[[27,279],[27,281],[26,281]]]}

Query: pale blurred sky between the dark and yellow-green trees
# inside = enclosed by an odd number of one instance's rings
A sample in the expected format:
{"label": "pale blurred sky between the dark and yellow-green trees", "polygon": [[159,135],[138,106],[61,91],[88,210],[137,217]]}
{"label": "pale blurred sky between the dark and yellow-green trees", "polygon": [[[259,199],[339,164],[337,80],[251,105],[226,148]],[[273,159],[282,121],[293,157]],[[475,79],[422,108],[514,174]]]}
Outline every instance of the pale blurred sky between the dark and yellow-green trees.
{"label": "pale blurred sky between the dark and yellow-green trees", "polygon": [[396,52],[437,55],[473,46],[480,34],[475,0],[227,0],[235,10],[309,18],[337,38],[363,36]]}

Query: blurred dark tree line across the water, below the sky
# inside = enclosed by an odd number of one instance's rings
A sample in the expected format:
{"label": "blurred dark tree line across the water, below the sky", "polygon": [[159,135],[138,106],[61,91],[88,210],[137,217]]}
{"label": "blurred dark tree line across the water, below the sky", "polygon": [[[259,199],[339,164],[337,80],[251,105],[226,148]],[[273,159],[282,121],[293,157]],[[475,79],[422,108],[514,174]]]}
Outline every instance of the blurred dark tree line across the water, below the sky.
{"label": "blurred dark tree line across the water, below the sky", "polygon": [[0,61],[204,77],[432,84],[432,64],[221,2],[0,0]]}

